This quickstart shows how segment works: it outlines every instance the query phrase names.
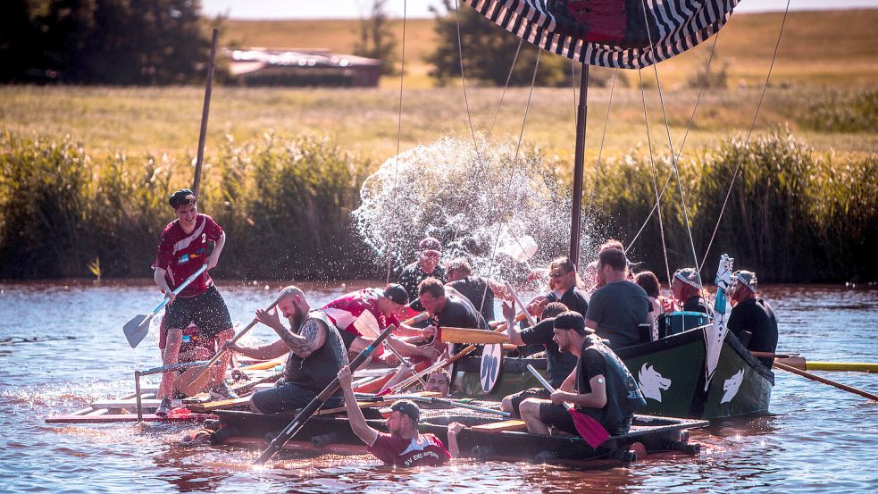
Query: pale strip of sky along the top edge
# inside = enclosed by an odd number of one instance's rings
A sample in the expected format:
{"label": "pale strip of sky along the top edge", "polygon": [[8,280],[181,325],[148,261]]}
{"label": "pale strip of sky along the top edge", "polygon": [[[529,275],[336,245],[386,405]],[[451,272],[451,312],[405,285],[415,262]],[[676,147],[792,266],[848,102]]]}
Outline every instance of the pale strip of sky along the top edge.
{"label": "pale strip of sky along the top edge", "polygon": [[[201,0],[202,12],[231,19],[358,19],[365,17],[372,0]],[[436,0],[388,0],[390,17],[431,17]],[[782,11],[787,0],[742,0],[735,12]],[[878,0],[790,0],[790,10],[878,8]]]}

